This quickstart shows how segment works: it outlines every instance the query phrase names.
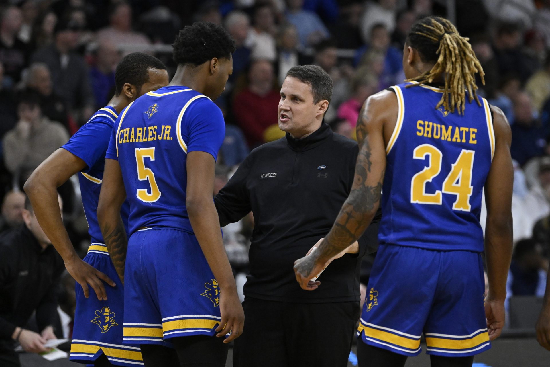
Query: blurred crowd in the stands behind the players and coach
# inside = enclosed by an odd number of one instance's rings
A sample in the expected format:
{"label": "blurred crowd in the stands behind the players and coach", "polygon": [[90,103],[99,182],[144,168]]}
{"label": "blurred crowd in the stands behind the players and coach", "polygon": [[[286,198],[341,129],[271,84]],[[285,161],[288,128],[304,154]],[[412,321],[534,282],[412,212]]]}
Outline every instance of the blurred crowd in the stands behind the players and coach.
{"label": "blurred crowd in the stands behind the players and coach", "polygon": [[[30,173],[114,92],[129,52],[169,68],[177,30],[196,20],[233,36],[233,75],[216,101],[226,118],[216,188],[250,150],[284,136],[279,87],[294,65],[317,64],[334,92],[325,122],[349,138],[368,96],[402,83],[410,26],[454,15],[485,72],[478,94],[503,110],[513,132],[514,240],[510,294],[541,295],[550,250],[550,0],[11,0],[0,7],[0,194],[2,230],[21,223]],[[475,103],[475,102],[474,102]],[[75,247],[87,248],[78,184],[61,187]],[[484,214],[482,213],[482,223]],[[253,223],[227,228],[235,272],[246,272]]]}

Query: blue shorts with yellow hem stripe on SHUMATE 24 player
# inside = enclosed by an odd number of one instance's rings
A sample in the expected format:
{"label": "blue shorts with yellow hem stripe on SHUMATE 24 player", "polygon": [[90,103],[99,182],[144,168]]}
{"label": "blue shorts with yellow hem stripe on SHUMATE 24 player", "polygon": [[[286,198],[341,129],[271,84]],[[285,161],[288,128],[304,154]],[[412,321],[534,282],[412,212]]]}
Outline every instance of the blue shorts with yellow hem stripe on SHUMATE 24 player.
{"label": "blue shorts with yellow hem stripe on SHUMATE 24 player", "polygon": [[491,348],[480,253],[380,245],[358,335],[403,355],[466,357]]}

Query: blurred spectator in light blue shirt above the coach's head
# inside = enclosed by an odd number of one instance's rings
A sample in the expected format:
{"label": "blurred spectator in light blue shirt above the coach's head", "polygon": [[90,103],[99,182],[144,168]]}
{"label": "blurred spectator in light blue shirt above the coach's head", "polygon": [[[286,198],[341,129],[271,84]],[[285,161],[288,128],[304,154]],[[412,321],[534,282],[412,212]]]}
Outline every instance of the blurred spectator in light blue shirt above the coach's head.
{"label": "blurred spectator in light blue shirt above the coach's head", "polygon": [[304,10],[304,0],[287,0],[287,21],[298,30],[300,46],[312,46],[330,36],[317,14]]}

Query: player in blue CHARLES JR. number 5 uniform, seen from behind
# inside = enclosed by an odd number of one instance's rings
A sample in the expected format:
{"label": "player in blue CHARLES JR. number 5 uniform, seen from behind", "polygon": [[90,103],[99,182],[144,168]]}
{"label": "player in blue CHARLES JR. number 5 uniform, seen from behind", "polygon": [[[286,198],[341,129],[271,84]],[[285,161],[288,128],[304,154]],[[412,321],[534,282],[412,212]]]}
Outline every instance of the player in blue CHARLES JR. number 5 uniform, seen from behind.
{"label": "player in blue CHARLES JR. number 5 uniform, seen from behind", "polygon": [[235,46],[221,26],[197,22],[173,47],[171,83],[117,119],[97,216],[125,280],[124,341],[141,345],[146,366],[224,366],[244,313],[212,200],[225,135],[212,100],[233,71]]}

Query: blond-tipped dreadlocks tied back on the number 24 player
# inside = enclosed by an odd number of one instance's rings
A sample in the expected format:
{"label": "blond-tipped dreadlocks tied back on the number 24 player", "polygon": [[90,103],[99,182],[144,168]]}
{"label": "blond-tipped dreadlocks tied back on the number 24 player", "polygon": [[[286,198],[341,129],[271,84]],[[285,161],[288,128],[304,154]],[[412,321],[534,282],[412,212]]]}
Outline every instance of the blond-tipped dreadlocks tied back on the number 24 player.
{"label": "blond-tipped dreadlocks tied back on the number 24 player", "polygon": [[475,100],[481,106],[476,94],[475,74],[479,73],[481,83],[485,84],[485,73],[468,40],[458,34],[450,21],[440,17],[421,19],[409,32],[407,44],[420,53],[422,61],[435,64],[427,72],[406,81],[432,83],[443,76],[445,87],[436,109],[443,106],[445,111],[454,112],[456,107],[459,114],[464,114],[466,90],[468,102]]}

